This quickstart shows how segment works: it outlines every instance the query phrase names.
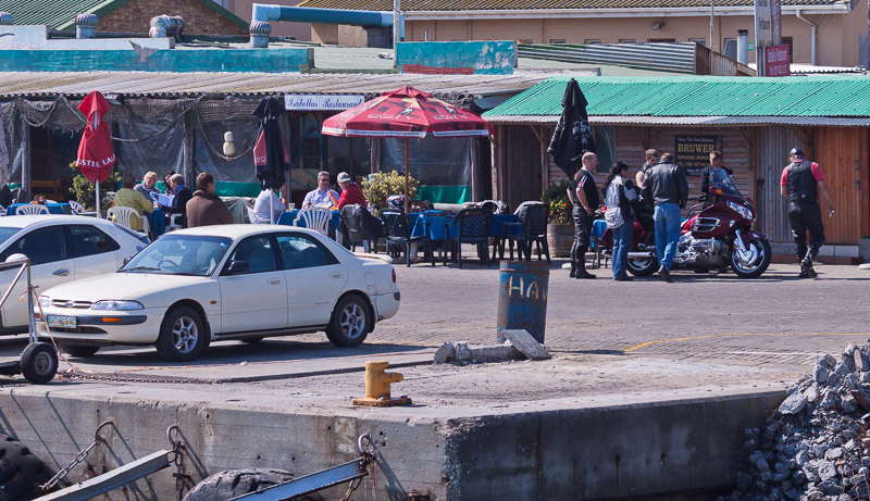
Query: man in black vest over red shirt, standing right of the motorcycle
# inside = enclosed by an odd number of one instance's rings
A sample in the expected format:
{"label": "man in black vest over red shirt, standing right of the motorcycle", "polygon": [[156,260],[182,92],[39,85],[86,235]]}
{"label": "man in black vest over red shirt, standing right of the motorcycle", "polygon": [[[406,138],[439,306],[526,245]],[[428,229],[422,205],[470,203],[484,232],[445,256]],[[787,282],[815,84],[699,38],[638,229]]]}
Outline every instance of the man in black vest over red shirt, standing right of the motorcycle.
{"label": "man in black vest over red shirt, standing right of the motorcycle", "polygon": [[[819,254],[819,248],[824,243],[824,225],[822,213],[819,209],[819,191],[828,202],[834,215],[834,201],[824,183],[822,170],[816,162],[804,158],[800,148],[792,148],[788,152],[792,162],[782,171],[780,192],[788,200],[788,222],[792,224],[792,238],[795,241],[795,252],[800,261],[800,278],[816,278],[812,260]],[[809,248],[807,248],[807,230],[809,230]]]}

